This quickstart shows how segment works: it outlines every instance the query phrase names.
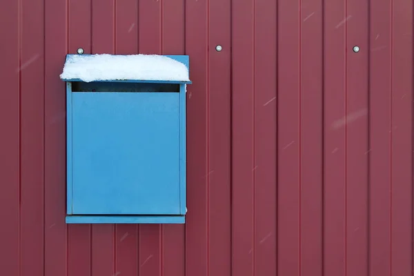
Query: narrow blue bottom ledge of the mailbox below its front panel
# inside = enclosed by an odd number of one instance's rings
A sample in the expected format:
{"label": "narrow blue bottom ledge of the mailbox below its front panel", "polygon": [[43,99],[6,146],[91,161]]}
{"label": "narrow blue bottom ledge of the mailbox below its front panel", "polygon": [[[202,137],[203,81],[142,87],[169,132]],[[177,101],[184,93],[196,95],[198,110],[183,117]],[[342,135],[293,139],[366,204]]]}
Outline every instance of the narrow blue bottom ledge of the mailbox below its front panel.
{"label": "narrow blue bottom ledge of the mailbox below its front panel", "polygon": [[66,216],[67,224],[184,224],[184,215],[170,216]]}

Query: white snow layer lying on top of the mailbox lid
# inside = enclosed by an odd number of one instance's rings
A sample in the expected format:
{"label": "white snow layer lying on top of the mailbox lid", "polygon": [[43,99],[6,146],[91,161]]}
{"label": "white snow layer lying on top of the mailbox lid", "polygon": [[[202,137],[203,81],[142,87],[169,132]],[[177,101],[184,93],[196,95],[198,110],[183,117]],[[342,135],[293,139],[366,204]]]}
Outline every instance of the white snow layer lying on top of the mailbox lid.
{"label": "white snow layer lying on top of the mailbox lid", "polygon": [[184,63],[161,55],[73,55],[66,61],[60,77],[85,82],[126,79],[189,81]]}

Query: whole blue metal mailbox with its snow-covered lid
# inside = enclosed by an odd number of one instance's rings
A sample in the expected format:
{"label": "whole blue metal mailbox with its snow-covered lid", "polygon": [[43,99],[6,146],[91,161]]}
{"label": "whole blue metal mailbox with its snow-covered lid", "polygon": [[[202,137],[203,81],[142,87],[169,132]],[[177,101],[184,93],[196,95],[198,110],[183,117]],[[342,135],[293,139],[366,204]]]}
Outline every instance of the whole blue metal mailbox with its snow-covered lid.
{"label": "whole blue metal mailbox with its snow-covered lid", "polygon": [[183,224],[184,55],[67,55],[68,224]]}

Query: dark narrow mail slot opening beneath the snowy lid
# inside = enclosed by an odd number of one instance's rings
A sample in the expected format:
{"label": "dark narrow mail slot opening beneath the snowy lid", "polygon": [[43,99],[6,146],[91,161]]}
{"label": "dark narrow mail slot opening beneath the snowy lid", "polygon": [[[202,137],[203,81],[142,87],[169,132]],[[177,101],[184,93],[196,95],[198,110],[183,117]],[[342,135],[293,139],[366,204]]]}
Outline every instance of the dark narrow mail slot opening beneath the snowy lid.
{"label": "dark narrow mail slot opening beneath the snowy lid", "polygon": [[72,92],[179,92],[179,84],[74,81]]}

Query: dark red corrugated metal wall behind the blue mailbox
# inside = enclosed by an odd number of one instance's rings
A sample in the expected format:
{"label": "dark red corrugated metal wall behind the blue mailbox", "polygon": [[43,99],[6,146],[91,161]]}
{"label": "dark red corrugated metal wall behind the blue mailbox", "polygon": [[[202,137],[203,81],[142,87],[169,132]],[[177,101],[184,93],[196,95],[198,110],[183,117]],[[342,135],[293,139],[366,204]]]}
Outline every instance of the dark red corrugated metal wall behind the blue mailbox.
{"label": "dark red corrugated metal wall behind the blue mailbox", "polygon": [[[413,275],[411,0],[3,0],[0,23],[1,275]],[[79,47],[190,55],[186,225],[65,224]]]}

